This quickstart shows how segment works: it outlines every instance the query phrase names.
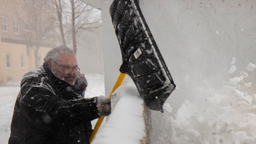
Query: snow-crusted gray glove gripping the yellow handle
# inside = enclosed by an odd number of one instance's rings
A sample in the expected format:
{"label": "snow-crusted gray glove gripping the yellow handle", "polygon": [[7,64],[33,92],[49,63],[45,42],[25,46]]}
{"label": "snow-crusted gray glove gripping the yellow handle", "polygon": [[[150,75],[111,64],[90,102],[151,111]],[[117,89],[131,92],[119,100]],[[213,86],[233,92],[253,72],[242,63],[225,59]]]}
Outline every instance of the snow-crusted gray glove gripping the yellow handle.
{"label": "snow-crusted gray glove gripping the yellow handle", "polygon": [[100,116],[109,116],[111,113],[111,99],[103,95],[98,96],[97,109]]}

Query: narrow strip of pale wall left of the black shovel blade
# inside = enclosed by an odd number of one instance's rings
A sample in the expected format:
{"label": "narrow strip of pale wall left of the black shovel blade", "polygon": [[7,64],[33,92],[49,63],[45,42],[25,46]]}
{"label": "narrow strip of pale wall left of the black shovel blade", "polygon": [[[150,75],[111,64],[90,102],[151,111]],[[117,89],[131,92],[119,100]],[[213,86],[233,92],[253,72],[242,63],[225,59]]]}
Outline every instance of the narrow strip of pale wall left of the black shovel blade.
{"label": "narrow strip of pale wall left of the black shovel blade", "polygon": [[119,76],[122,64],[120,47],[109,14],[111,0],[102,2],[102,44],[105,75],[105,95],[109,95]]}

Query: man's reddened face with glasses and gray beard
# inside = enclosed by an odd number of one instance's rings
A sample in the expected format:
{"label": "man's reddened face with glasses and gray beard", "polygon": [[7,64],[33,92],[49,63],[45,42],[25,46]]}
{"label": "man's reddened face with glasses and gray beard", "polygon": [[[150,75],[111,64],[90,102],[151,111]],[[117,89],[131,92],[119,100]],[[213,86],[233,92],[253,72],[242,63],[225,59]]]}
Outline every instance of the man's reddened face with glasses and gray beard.
{"label": "man's reddened face with glasses and gray beard", "polygon": [[77,61],[75,55],[62,54],[58,56],[58,59],[56,61],[51,60],[50,62],[48,62],[48,64],[50,66],[50,69],[58,78],[66,80],[72,85],[75,84],[77,77],[77,73],[73,72],[73,70],[77,68]]}

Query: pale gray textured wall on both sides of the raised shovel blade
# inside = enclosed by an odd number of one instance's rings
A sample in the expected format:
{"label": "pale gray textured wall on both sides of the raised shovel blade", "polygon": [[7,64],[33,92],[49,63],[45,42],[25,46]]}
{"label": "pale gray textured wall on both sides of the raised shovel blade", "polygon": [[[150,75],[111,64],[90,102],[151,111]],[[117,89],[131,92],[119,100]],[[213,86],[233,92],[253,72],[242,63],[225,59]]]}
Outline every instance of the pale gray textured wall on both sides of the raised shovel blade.
{"label": "pale gray textured wall on both sides of the raised shovel blade", "polygon": [[[121,52],[109,15],[112,1],[102,4],[105,92],[118,77]],[[256,63],[254,0],[140,0],[140,7],[176,83],[185,76],[222,85]],[[218,32],[217,32],[218,31]],[[227,75],[232,57],[236,72]],[[254,81],[255,72],[245,82]]]}

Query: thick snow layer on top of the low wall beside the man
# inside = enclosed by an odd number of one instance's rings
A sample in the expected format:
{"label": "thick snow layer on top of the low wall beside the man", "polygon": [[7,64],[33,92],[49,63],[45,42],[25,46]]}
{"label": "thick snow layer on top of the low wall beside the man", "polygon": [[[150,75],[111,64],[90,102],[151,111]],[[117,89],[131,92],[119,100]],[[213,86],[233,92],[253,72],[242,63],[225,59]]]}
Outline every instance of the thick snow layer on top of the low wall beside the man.
{"label": "thick snow layer on top of the low wall beside the man", "polygon": [[147,142],[144,102],[136,87],[120,86],[112,96],[112,113],[92,144]]}

